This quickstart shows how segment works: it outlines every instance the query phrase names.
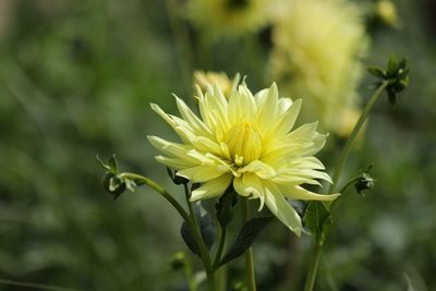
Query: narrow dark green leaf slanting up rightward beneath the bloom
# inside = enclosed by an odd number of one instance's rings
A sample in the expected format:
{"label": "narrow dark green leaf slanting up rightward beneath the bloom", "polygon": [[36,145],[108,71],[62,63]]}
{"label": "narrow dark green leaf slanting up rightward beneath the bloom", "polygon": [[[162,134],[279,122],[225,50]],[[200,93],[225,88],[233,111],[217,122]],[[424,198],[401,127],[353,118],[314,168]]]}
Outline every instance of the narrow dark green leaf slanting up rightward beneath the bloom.
{"label": "narrow dark green leaf slanting up rightward beneath the bloom", "polygon": [[257,235],[261,233],[264,227],[266,227],[268,222],[272,220],[272,216],[267,216],[250,219],[242,227],[233,244],[219,262],[219,266],[222,266],[242,255],[253,244]]}

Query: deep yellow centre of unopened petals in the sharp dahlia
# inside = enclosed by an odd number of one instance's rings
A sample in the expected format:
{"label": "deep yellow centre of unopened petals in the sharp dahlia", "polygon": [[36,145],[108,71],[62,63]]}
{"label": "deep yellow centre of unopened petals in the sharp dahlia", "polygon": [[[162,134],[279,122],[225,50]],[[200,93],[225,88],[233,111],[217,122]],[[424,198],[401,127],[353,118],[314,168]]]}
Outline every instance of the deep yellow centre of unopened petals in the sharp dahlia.
{"label": "deep yellow centre of unopened petals in the sharp dahlia", "polygon": [[226,143],[238,167],[247,165],[261,157],[262,136],[250,122],[233,125],[227,133]]}

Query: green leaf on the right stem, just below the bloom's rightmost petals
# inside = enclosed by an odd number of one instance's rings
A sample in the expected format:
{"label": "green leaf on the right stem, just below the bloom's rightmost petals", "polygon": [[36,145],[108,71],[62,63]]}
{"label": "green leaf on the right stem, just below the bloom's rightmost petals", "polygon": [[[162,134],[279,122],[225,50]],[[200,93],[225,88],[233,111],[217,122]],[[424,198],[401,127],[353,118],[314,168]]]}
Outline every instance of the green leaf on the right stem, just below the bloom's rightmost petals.
{"label": "green leaf on the right stem, just below the bloom's rightmost petals", "polygon": [[304,226],[315,241],[323,244],[332,225],[331,213],[322,202],[310,202],[303,217]]}

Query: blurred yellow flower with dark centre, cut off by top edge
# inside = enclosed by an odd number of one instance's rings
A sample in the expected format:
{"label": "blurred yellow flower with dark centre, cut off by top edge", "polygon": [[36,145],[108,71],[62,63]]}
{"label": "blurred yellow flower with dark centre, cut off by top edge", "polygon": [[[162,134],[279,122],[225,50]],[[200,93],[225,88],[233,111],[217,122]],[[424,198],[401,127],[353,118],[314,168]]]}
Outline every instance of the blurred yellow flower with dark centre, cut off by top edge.
{"label": "blurred yellow flower with dark centre, cut off by top edge", "polygon": [[189,19],[209,36],[241,36],[267,22],[268,0],[189,0]]}

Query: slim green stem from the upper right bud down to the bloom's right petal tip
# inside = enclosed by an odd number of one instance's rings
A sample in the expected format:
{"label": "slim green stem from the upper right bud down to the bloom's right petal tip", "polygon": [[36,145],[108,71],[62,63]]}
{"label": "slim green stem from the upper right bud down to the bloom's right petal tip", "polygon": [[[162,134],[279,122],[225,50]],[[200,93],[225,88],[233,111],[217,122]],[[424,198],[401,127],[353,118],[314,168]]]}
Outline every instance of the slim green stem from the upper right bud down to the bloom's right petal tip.
{"label": "slim green stem from the upper right bud down to the bloom's right petal tip", "polygon": [[362,111],[361,117],[358,120],[358,123],[354,125],[353,131],[351,132],[350,137],[347,141],[346,147],[342,150],[342,154],[339,158],[338,165],[335,168],[334,177],[332,177],[332,183],[330,184],[330,187],[328,190],[329,194],[332,194],[336,191],[336,184],[339,181],[339,177],[341,174],[343,165],[347,161],[348,156],[350,155],[350,150],[359,135],[359,132],[361,131],[362,126],[365,124],[366,118],[370,114],[371,110],[373,109],[375,102],[378,100],[378,98],[382,96],[383,92],[385,90],[386,86],[389,83],[387,81],[384,81],[378,88],[374,92],[373,96],[371,96],[370,101],[366,104],[365,108]]}

